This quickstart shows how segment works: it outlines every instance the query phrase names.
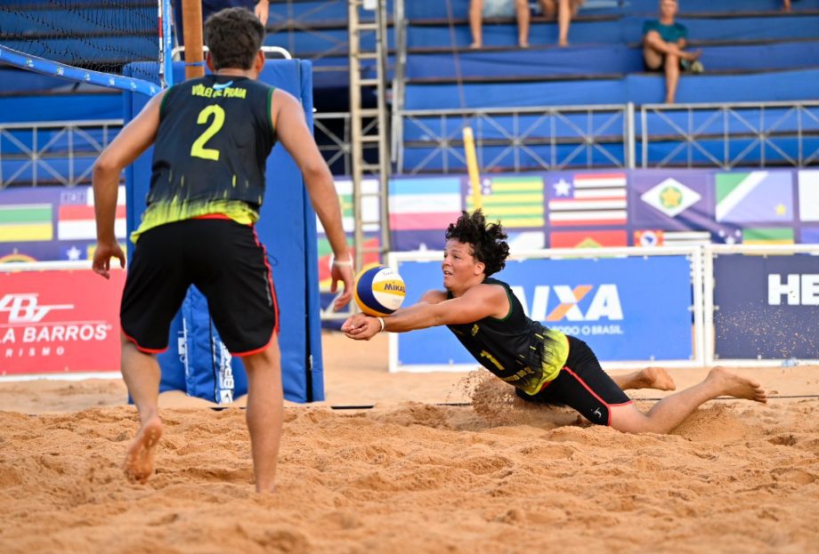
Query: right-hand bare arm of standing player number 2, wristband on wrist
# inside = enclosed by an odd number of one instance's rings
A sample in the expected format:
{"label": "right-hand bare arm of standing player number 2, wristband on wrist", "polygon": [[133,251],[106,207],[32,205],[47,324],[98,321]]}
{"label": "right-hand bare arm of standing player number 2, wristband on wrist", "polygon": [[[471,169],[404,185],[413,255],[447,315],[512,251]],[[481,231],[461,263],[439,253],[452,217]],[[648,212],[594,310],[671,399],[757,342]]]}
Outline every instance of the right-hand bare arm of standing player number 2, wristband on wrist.
{"label": "right-hand bare arm of standing player number 2, wristband on wrist", "polygon": [[[338,203],[333,175],[321,157],[319,147],[312,138],[312,132],[304,120],[302,105],[288,92],[276,89],[273,92],[271,118],[281,145],[296,161],[304,176],[304,186],[310,195],[312,207],[319,216],[327,233],[330,246],[337,261],[351,261],[347,239],[341,224],[341,205]],[[335,293],[339,280],[344,282],[345,291],[335,302],[334,308],[341,309],[353,298],[353,265],[333,264],[330,291]]]}

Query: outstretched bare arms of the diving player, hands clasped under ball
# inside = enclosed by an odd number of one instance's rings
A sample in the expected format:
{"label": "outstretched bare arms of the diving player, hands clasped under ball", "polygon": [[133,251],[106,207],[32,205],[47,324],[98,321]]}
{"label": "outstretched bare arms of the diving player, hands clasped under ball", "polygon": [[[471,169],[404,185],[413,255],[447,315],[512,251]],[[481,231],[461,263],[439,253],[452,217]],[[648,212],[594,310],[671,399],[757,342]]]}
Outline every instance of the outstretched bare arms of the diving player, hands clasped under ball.
{"label": "outstretched bare arms of the diving player, hands clasped under ball", "polygon": [[[438,325],[472,323],[483,317],[503,317],[508,310],[507,293],[500,286],[477,285],[463,296],[450,300],[446,300],[446,293],[433,291],[426,293],[418,304],[384,317],[384,331],[405,333]],[[369,341],[381,332],[381,321],[377,317],[356,314],[347,319],[341,329],[351,339]]]}

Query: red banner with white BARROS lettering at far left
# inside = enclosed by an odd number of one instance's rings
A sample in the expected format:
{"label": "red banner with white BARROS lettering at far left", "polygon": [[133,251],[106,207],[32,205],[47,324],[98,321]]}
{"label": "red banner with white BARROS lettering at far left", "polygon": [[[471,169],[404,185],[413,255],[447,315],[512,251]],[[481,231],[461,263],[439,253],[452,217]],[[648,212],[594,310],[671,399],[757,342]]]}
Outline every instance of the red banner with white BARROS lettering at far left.
{"label": "red banner with white BARROS lettering at far left", "polygon": [[0,375],[119,369],[126,272],[0,272]]}

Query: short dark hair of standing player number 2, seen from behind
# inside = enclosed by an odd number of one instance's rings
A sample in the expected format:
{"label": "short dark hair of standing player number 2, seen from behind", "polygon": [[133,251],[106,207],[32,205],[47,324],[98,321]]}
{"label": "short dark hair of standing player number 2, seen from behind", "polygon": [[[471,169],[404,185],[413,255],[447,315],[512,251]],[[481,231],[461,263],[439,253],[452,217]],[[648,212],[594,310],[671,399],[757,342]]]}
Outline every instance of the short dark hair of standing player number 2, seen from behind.
{"label": "short dark hair of standing player number 2, seen from behind", "polygon": [[205,44],[215,69],[252,68],[263,41],[264,25],[245,8],[226,8],[205,21]]}

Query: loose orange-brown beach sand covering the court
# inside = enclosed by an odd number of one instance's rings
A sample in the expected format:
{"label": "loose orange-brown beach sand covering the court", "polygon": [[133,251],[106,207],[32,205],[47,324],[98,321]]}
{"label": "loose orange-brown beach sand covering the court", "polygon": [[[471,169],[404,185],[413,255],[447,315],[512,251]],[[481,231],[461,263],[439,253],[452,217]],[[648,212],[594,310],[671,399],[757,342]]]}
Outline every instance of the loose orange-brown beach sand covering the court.
{"label": "loose orange-brown beach sand covering the court", "polygon": [[[383,336],[324,348],[328,399],[288,404],[272,495],[236,407],[164,395],[141,486],[119,467],[137,430],[121,381],[0,383],[0,552],[819,551],[819,367],[740,370],[767,405],[625,435],[482,373],[387,373]],[[332,407],[350,405],[374,406]]]}

